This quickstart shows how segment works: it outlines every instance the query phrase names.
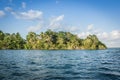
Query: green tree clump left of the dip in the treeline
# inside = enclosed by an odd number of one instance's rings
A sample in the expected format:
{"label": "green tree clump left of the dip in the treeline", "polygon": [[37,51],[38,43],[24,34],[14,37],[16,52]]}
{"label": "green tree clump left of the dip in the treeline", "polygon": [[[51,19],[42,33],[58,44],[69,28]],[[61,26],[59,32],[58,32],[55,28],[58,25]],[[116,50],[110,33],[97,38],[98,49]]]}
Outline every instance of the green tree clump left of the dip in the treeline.
{"label": "green tree clump left of the dip in the treeline", "polygon": [[24,49],[25,40],[19,33],[3,33],[3,35],[0,40],[0,49]]}

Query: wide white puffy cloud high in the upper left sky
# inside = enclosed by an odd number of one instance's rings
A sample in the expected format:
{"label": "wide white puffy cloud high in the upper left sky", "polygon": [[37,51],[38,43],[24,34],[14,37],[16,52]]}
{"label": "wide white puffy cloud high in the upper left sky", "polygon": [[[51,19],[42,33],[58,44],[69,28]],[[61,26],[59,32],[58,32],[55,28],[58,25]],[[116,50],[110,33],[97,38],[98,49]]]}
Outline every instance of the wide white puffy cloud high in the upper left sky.
{"label": "wide white puffy cloud high in the upper left sky", "polygon": [[29,10],[27,12],[12,12],[12,14],[17,19],[25,19],[25,20],[40,20],[42,18],[43,12],[39,10]]}

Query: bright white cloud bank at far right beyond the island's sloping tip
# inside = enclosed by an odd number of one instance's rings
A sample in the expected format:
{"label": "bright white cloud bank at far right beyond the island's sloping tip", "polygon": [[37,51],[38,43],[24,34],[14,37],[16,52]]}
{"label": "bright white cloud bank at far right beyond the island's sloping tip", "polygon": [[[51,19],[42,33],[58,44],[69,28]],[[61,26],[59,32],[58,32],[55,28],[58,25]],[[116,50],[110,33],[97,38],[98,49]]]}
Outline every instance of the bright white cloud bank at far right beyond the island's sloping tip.
{"label": "bright white cloud bank at far right beyond the island's sloping tip", "polygon": [[120,30],[102,32],[97,35],[108,47],[120,47]]}

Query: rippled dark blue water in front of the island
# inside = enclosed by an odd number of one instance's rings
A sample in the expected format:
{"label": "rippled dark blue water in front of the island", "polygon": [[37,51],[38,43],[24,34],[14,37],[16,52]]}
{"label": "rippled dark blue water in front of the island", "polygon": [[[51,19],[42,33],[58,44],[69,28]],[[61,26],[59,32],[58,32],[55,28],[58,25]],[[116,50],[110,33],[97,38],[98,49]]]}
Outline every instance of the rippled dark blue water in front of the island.
{"label": "rippled dark blue water in front of the island", "polygon": [[0,50],[0,80],[120,80],[120,49]]}

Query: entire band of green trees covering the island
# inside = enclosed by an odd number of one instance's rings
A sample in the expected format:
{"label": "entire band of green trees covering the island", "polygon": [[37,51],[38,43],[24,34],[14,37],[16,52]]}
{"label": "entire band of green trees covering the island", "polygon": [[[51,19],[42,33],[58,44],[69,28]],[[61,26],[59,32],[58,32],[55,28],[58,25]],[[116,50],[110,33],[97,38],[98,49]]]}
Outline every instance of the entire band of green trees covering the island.
{"label": "entire band of green trees covering the island", "polygon": [[53,32],[47,30],[36,34],[29,32],[26,40],[19,33],[4,33],[0,31],[0,49],[106,49],[96,35],[80,39],[70,32]]}

